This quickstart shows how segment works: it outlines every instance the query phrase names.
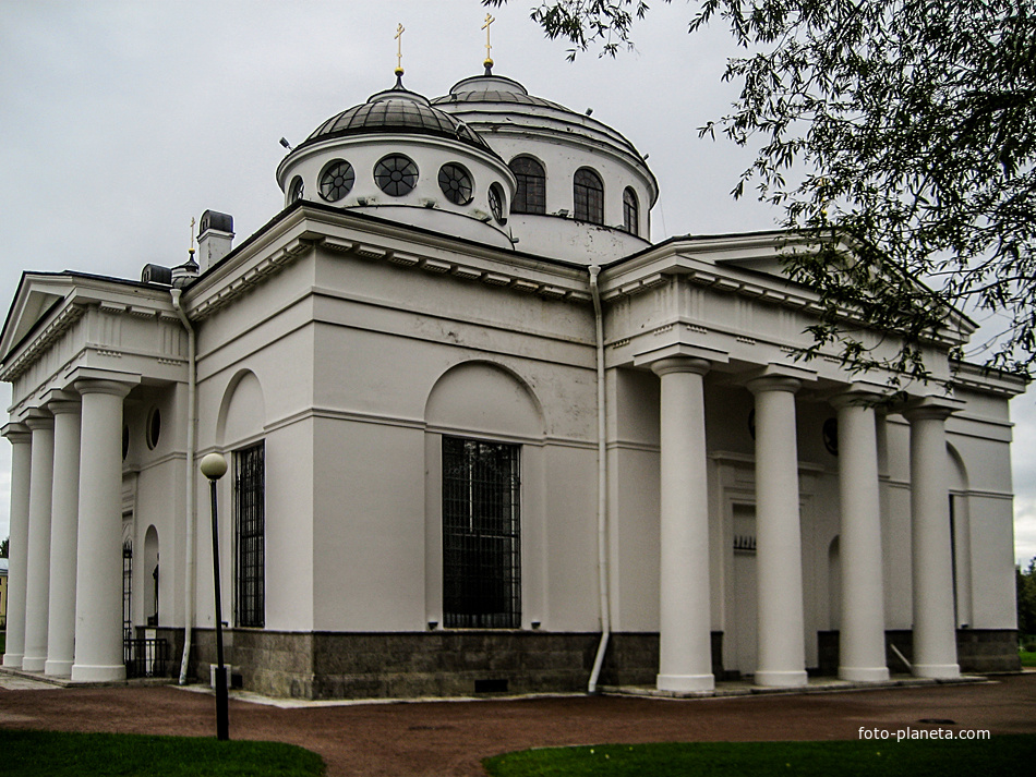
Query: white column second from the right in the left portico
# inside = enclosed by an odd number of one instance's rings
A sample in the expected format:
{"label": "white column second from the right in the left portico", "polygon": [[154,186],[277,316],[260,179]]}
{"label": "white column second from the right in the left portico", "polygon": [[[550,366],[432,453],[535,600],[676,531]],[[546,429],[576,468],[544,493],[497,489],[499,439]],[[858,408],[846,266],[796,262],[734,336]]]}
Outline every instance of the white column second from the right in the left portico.
{"label": "white column second from the right in the left portico", "polygon": [[56,677],[72,673],[75,623],[75,548],[80,494],[80,401],[51,401],[53,413],[53,499],[50,520],[50,620],[47,664]]}

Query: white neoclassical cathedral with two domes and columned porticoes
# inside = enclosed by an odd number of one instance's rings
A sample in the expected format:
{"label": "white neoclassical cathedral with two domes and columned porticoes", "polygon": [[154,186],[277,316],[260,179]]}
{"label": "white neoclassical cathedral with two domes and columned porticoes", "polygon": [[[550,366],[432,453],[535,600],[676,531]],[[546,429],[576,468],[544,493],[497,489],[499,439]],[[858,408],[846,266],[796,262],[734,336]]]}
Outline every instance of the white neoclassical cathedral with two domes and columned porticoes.
{"label": "white neoclassical cathedral with two domes and columned porticoes", "polygon": [[[399,72],[401,76],[401,72]],[[658,183],[485,73],[393,88],[280,162],[285,207],[141,280],[22,278],[3,666],[303,699],[1011,670],[1009,400],[803,362],[786,235],[651,243]],[[963,333],[962,333],[963,332]]]}

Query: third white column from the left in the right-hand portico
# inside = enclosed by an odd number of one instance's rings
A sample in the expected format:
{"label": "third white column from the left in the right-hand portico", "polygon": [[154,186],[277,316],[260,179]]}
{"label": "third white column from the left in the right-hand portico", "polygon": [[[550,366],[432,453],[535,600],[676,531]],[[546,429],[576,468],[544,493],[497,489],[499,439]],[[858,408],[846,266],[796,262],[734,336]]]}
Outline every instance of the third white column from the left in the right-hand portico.
{"label": "third white column from the left in the right-hand portico", "polygon": [[839,487],[842,502],[842,627],[839,677],[856,682],[889,679],[884,658],[884,586],[881,500],[878,491],[876,397],[835,397],[839,411]]}

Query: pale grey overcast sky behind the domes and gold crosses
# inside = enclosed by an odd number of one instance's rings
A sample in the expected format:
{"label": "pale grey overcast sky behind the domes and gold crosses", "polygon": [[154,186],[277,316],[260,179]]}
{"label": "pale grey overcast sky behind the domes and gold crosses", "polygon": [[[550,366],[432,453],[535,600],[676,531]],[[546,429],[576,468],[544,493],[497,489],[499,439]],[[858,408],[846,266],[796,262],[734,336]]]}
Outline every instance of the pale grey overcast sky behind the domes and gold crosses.
{"label": "pale grey overcast sky behind the domes and gold crosses", "polygon": [[[547,41],[533,0],[492,9],[494,72],[628,137],[659,179],[652,238],[770,229],[779,214],[730,191],[750,155],[697,128],[723,116],[727,33],[686,33],[656,3],[617,59]],[[538,4],[538,3],[537,3]],[[191,218],[231,214],[240,242],[282,205],[278,141],[394,83],[435,97],[482,71],[479,0],[0,0],[0,307],[23,270],[138,278],[186,258]],[[10,403],[10,387],[0,386]],[[1012,403],[1016,558],[1036,556],[1036,409]],[[10,446],[0,444],[0,537]]]}

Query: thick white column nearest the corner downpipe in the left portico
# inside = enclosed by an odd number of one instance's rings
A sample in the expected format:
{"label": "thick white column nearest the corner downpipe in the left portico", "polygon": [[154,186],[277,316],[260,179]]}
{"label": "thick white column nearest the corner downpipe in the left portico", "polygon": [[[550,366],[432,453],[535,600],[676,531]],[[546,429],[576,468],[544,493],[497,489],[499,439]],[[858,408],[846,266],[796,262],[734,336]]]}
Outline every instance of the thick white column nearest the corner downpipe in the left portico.
{"label": "thick white column nearest the corner downpipe in the left portico", "polygon": [[83,420],[72,680],[122,680],[122,399],[130,386],[77,380],[75,389]]}

